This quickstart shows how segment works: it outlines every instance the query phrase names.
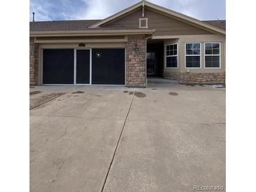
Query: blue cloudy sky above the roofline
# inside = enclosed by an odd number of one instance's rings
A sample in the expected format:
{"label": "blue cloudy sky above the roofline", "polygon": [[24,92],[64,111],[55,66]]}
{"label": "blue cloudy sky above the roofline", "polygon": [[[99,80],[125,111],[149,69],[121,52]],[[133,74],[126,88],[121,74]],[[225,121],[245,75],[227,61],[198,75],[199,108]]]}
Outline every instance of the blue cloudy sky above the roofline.
{"label": "blue cloudy sky above the roofline", "polygon": [[[95,20],[133,6],[140,0],[30,0],[29,20]],[[225,20],[226,0],[148,0],[198,20]]]}

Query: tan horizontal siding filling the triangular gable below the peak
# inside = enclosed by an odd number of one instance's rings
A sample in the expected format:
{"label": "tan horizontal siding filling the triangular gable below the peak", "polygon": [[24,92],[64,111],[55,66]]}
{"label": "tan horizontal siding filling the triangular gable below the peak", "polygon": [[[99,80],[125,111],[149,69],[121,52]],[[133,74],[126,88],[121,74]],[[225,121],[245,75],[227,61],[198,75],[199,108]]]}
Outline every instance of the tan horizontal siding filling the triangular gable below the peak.
{"label": "tan horizontal siding filling the triangular gable below the peak", "polygon": [[[139,27],[139,18],[142,18],[142,9],[130,13],[123,18],[119,18],[114,22],[111,22],[105,26],[107,27]],[[194,27],[170,18],[166,15],[156,13],[148,8],[145,9],[145,18],[149,18],[148,25],[149,29],[156,29],[154,36],[162,35],[188,35],[188,34],[211,34],[210,32]]]}

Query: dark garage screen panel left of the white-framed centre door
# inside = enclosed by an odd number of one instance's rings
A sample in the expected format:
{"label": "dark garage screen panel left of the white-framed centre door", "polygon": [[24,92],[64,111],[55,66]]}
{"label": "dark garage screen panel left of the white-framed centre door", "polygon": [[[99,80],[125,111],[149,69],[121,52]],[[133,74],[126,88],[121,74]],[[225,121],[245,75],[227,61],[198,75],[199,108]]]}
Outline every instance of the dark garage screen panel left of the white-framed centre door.
{"label": "dark garage screen panel left of the white-framed centre door", "polygon": [[43,50],[43,84],[74,83],[74,49]]}

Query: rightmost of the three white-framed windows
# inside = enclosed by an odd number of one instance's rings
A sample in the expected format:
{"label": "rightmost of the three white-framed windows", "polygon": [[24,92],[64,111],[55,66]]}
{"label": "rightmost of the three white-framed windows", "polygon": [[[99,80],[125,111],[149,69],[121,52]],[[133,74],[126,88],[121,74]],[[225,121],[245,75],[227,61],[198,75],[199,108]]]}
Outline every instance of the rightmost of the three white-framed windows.
{"label": "rightmost of the three white-framed windows", "polygon": [[205,67],[220,68],[220,43],[205,43]]}

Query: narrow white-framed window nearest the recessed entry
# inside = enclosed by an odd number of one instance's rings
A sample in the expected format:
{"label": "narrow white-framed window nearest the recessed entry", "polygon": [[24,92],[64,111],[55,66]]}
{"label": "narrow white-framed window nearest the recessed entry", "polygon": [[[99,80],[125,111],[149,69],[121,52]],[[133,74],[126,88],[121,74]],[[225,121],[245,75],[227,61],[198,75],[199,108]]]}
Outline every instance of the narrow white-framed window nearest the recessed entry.
{"label": "narrow white-framed window nearest the recessed entry", "polygon": [[177,44],[166,46],[166,67],[177,68]]}

